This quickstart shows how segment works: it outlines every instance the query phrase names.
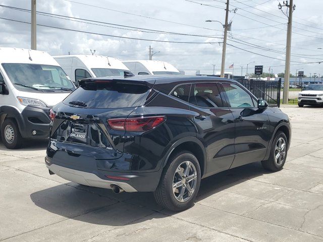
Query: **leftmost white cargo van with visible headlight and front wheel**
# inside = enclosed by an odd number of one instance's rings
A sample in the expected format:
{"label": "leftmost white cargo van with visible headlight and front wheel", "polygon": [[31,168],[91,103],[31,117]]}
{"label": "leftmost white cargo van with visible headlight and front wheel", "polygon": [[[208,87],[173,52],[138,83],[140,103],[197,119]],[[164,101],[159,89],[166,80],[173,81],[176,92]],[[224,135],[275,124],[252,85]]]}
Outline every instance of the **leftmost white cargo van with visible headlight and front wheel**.
{"label": "leftmost white cargo van with visible headlight and front wheel", "polygon": [[0,136],[5,146],[15,149],[23,138],[47,138],[49,109],[73,90],[48,53],[0,47]]}

